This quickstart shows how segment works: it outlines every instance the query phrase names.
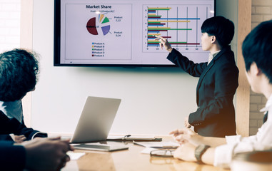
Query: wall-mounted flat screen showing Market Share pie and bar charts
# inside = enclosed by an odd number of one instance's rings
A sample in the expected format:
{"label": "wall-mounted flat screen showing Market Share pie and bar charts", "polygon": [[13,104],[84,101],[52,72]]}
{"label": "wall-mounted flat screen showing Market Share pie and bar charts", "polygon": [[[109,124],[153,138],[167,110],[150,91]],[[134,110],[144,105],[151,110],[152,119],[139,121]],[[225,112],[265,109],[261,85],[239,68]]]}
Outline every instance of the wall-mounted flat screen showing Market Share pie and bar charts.
{"label": "wall-mounted flat screen showing Market Share pie and bar charts", "polygon": [[192,61],[208,60],[201,24],[215,0],[55,0],[54,66],[174,66],[155,35]]}

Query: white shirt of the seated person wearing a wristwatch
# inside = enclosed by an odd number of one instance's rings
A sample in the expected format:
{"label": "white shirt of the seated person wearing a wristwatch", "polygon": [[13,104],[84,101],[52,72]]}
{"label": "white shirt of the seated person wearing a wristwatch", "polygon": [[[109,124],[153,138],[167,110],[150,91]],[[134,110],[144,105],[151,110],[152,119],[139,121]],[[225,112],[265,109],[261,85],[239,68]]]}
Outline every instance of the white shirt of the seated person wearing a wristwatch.
{"label": "white shirt of the seated person wearing a wristwatch", "polygon": [[233,155],[238,152],[272,149],[272,95],[266,103],[268,118],[256,135],[243,138],[241,135],[226,136],[226,145],[216,147],[213,165],[229,167]]}

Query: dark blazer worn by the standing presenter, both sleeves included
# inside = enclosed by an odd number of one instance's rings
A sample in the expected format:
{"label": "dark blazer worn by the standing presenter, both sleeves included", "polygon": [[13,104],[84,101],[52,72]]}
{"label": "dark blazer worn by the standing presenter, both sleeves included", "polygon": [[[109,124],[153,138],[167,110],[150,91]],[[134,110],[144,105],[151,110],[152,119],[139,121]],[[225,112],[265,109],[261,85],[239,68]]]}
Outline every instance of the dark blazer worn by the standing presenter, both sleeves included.
{"label": "dark blazer worn by the standing presenter, both sleeves included", "polygon": [[209,64],[193,63],[176,49],[167,58],[191,76],[199,77],[198,109],[188,118],[196,133],[210,137],[236,135],[233,95],[238,87],[239,71],[231,46],[221,49]]}

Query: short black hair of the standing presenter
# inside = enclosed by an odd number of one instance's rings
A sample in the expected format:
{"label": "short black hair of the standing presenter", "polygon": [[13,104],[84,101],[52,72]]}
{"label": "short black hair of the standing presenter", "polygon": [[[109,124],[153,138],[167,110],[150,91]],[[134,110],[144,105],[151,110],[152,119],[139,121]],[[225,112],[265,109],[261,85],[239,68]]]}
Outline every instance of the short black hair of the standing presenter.
{"label": "short black hair of the standing presenter", "polygon": [[206,19],[201,26],[202,33],[208,36],[216,36],[219,46],[228,46],[234,36],[234,24],[223,16],[213,16]]}

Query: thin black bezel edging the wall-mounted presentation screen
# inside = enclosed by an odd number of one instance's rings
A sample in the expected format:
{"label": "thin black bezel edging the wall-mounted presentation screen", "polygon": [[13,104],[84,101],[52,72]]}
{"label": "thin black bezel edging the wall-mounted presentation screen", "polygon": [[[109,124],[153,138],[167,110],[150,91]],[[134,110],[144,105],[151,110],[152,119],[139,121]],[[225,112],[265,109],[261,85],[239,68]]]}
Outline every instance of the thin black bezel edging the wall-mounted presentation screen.
{"label": "thin black bezel edging the wall-mounted presentation screen", "polygon": [[[214,16],[216,16],[216,0],[214,0]],[[61,0],[54,0],[54,66],[121,66],[134,67],[177,67],[167,64],[96,64],[96,63],[61,63]]]}

